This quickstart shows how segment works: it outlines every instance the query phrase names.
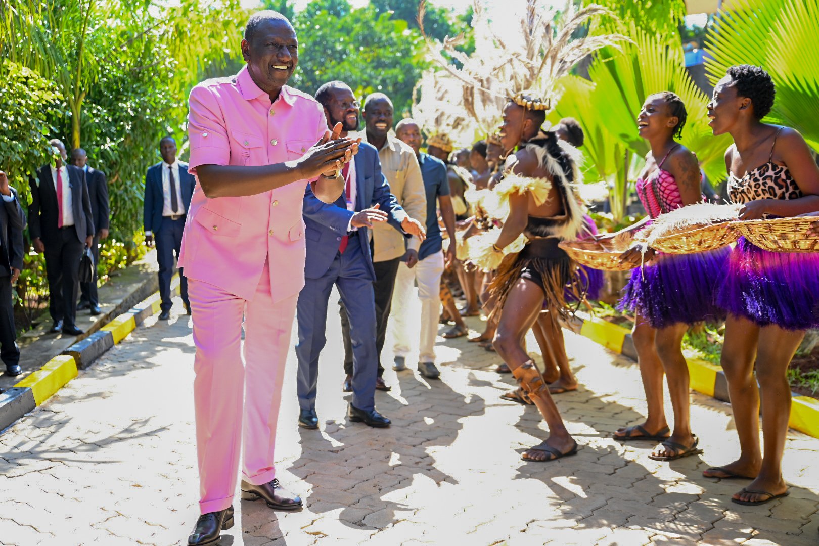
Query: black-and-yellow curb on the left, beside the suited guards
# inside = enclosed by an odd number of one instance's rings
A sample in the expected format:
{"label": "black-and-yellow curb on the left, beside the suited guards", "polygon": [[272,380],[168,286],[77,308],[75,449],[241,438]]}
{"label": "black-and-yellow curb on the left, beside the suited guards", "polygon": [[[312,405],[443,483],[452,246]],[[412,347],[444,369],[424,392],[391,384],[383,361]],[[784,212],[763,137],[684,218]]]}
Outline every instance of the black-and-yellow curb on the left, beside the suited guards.
{"label": "black-and-yellow curb on the left, beside the suited guards", "polygon": [[[175,275],[171,283],[171,297],[178,295],[179,275]],[[94,360],[120,343],[146,318],[159,310],[160,296],[156,292],[97,332],[71,345],[63,354],[49,360],[11,389],[0,393],[0,431],[51,398],[68,381],[77,377],[79,370],[88,368]]]}

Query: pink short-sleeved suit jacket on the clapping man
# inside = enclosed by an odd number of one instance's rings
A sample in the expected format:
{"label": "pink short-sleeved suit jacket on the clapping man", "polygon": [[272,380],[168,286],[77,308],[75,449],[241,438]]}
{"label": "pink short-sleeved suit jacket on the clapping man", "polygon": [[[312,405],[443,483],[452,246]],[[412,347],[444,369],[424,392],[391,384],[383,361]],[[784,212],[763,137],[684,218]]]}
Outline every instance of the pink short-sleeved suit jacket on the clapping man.
{"label": "pink short-sleeved suit jacket on the clapping man", "polygon": [[[199,165],[271,165],[296,160],[324,136],[324,109],[287,86],[271,104],[247,66],[233,77],[199,83],[190,95],[188,172]],[[301,218],[308,180],[255,196],[209,199],[193,191],[179,253],[185,276],[244,300],[269,256],[274,302],[304,287],[305,238]]]}

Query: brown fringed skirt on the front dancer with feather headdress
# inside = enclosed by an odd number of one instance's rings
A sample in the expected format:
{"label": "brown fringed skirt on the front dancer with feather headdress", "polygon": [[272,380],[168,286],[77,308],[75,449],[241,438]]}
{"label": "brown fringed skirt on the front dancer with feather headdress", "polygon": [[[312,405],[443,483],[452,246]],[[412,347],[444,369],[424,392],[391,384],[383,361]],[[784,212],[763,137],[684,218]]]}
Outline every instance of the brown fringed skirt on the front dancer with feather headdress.
{"label": "brown fringed skirt on the front dancer with feather headdress", "polygon": [[570,318],[568,296],[583,300],[585,284],[580,275],[574,274],[574,262],[558,243],[555,237],[533,239],[518,254],[506,256],[489,287],[491,295],[498,299],[495,311],[503,309],[509,292],[518,279],[524,278],[541,287],[544,309],[561,318]]}

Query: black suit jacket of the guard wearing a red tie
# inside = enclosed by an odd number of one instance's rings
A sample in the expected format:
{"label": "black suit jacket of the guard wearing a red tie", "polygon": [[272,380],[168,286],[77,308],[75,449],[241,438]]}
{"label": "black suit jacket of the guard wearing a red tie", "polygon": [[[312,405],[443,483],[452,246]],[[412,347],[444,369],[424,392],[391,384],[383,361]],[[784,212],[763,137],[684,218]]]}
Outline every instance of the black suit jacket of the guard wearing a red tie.
{"label": "black suit jacket of the guard wearing a red tie", "polygon": [[[66,169],[68,185],[71,187],[71,210],[74,212],[75,231],[79,241],[85,241],[85,237],[95,233],[85,171],[74,165],[67,165]],[[31,186],[29,235],[32,239],[41,238],[46,246],[56,244],[60,231],[57,228],[57,189],[54,187],[51,166],[40,167],[37,179],[31,180],[29,185]]]}

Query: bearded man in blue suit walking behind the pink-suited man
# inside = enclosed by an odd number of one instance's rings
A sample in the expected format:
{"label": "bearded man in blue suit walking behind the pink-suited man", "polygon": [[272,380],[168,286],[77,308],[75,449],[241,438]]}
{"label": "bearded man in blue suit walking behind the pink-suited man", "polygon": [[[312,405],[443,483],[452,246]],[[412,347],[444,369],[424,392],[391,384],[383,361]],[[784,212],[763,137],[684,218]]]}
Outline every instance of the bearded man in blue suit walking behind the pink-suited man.
{"label": "bearded man in blue suit walking behind the pink-suited man", "polygon": [[[359,103],[346,83],[325,83],[315,94],[324,106],[328,127],[342,123],[342,137],[359,126]],[[296,306],[299,363],[297,391],[299,425],[318,428],[315,414],[319,354],[326,343],[327,306],[335,285],[347,309],[353,345],[353,398],[348,417],[369,426],[389,426],[390,420],[375,409],[378,354],[375,347],[373,259],[369,228],[387,222],[405,237],[422,241],[423,226],[409,218],[390,193],[381,173],[378,151],[361,142],[359,152],[342,171],[345,192],[333,204],[319,201],[307,187],[304,200],[307,259],[305,287]]]}

